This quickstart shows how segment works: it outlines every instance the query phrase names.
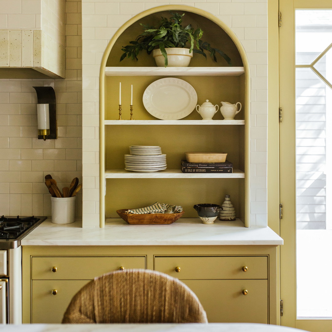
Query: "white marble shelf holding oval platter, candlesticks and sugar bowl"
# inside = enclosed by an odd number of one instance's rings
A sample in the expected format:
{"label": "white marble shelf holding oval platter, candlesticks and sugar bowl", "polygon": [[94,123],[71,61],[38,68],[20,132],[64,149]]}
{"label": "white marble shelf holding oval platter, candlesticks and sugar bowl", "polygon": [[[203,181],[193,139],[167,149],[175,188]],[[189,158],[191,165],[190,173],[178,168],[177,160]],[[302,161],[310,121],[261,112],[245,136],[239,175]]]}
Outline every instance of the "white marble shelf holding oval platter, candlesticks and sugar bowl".
{"label": "white marble shelf holding oval platter, candlesticks and sugar bowl", "polygon": [[154,125],[229,125],[229,124],[244,124],[244,120],[105,120],[104,124],[106,125],[146,125],[146,124],[154,124]]}

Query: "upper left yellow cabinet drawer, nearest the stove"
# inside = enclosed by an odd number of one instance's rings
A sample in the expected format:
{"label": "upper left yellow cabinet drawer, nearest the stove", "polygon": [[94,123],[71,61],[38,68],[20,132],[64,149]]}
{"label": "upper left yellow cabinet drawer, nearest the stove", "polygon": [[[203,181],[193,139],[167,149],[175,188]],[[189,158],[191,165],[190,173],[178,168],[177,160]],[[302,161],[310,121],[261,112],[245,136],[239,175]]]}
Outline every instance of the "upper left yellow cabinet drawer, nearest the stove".
{"label": "upper left yellow cabinet drawer, nearest the stove", "polygon": [[[135,257],[33,257],[33,280],[93,279],[104,273],[145,269],[145,256]],[[53,272],[54,271],[54,272]]]}

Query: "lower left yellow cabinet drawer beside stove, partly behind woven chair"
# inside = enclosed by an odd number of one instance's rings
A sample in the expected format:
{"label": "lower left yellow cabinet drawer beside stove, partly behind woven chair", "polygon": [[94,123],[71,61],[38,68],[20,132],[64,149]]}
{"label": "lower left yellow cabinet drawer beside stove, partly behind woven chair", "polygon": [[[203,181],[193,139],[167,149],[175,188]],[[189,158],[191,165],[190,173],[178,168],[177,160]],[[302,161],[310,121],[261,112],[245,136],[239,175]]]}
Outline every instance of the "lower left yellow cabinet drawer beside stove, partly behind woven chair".
{"label": "lower left yellow cabinet drawer beside stove, partly behind woven chair", "polygon": [[[31,323],[61,323],[72,297],[90,280],[34,280]],[[56,295],[52,294],[56,290]]]}

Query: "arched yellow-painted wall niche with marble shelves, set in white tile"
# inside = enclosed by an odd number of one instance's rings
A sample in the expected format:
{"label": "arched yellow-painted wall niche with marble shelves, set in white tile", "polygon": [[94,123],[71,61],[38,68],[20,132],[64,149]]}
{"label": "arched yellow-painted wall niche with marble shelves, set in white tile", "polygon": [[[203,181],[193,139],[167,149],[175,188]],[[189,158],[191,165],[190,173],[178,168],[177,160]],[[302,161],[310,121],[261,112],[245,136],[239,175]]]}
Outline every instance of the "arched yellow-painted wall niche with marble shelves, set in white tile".
{"label": "arched yellow-painted wall niche with marble shelves, set in white tile", "polygon": [[[140,67],[155,67],[151,55],[146,52],[139,54],[139,60],[132,61],[124,59],[119,62],[122,54],[121,48],[127,45],[129,41],[134,40],[141,32],[139,23],[155,24],[161,16],[168,16],[169,11],[185,13],[184,24],[200,26],[204,30],[203,40],[208,41],[213,47],[223,50],[232,60],[232,66],[243,67],[243,74],[223,76],[220,74],[211,74],[207,72],[203,75],[169,75],[167,71],[155,74],[122,75],[121,67],[133,67],[139,70]],[[207,54],[207,60],[202,55],[195,54],[190,67],[224,67],[226,62],[218,57],[218,62],[214,62]],[[110,72],[113,69],[113,73]],[[163,70],[161,68],[161,70]],[[213,71],[213,70],[212,70]],[[179,204],[176,200],[181,200],[185,192],[190,193],[190,197],[185,200],[184,217],[195,217],[196,211],[193,210],[193,204],[198,202],[200,196],[203,201],[214,201],[221,204],[224,194],[231,194],[233,204],[236,207],[245,225],[249,226],[250,199],[249,199],[249,114],[250,114],[250,79],[249,66],[244,49],[234,35],[234,33],[223,22],[210,13],[203,10],[180,5],[160,6],[136,15],[126,24],[124,24],[109,42],[101,64],[100,76],[100,151],[105,151],[100,155],[100,213],[101,227],[104,225],[104,215],[107,218],[117,217],[116,209],[140,207],[148,205],[151,200],[169,200],[169,204]],[[216,121],[202,125],[201,117],[193,111],[186,118],[177,120],[177,123],[167,123],[150,115],[143,106],[142,95],[146,87],[153,81],[162,77],[178,77],[186,80],[196,90],[198,95],[198,104],[202,104],[209,99],[213,104],[219,104],[221,101],[237,102],[243,104],[237,118],[238,123],[242,121],[245,125],[214,125],[220,124],[222,116],[220,112],[214,116]],[[122,82],[122,119],[129,119],[130,105],[130,85],[134,86],[133,105],[134,121],[140,125],[132,125],[126,121],[118,123],[119,117],[119,81]],[[171,101],[170,101],[171,107]],[[105,121],[106,120],[106,121]],[[154,122],[154,125],[142,123]],[[184,122],[181,123],[181,121]],[[192,125],[187,125],[188,121]],[[161,123],[163,122],[163,123]],[[105,126],[105,123],[107,125]],[[135,123],[135,124],[136,124]],[[119,125],[124,124],[124,125]],[[161,125],[162,124],[162,125]],[[181,124],[179,126],[179,124]],[[166,137],[166,139],[165,139]],[[179,168],[180,160],[184,152],[193,150],[195,147],[201,150],[209,147],[212,150],[220,151],[225,149],[229,151],[228,157],[234,163],[234,167],[242,170],[243,176],[235,178],[217,179],[216,184],[213,177],[204,177],[198,179],[176,180],[174,175],[165,175],[157,177],[153,174],[149,176],[140,175],[116,175],[115,170],[124,169],[123,155],[128,153],[129,145],[160,145],[163,153],[167,154],[167,164],[170,169]],[[197,149],[196,149],[197,151]],[[227,158],[228,159],[228,158]],[[111,170],[106,171],[105,169]],[[112,172],[114,170],[114,172]],[[245,172],[244,172],[245,171]],[[110,175],[110,173],[112,173]],[[244,173],[247,176],[244,176]],[[105,191],[105,178],[108,180],[107,190]],[[112,182],[112,183],[111,183]],[[151,188],[163,188],[163,195],[154,192]],[[171,188],[174,188],[172,191]],[[144,188],[144,190],[142,189]],[[146,196],[146,188],[151,193],[151,198]],[[199,189],[200,188],[200,189]],[[198,193],[195,196],[195,192]],[[104,196],[106,192],[106,196]],[[156,197],[158,196],[158,197]],[[188,195],[187,195],[188,196]],[[173,198],[173,201],[172,201]],[[183,199],[183,198],[182,198]],[[105,205],[105,201],[107,204]],[[207,202],[206,202],[207,203]],[[211,203],[211,202],[210,202]],[[130,205],[131,206],[127,206]],[[190,210],[192,209],[192,210]]]}

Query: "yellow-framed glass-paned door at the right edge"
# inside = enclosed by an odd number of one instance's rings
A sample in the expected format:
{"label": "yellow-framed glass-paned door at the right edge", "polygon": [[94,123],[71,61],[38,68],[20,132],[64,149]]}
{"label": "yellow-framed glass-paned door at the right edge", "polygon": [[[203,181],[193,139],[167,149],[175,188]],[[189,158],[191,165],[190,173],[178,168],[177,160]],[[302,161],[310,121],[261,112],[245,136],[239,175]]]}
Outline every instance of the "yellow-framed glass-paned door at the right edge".
{"label": "yellow-framed glass-paned door at the right edge", "polygon": [[281,322],[332,331],[332,3],[318,3],[280,1]]}

